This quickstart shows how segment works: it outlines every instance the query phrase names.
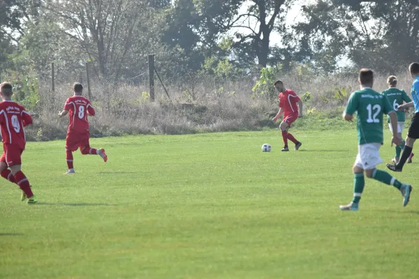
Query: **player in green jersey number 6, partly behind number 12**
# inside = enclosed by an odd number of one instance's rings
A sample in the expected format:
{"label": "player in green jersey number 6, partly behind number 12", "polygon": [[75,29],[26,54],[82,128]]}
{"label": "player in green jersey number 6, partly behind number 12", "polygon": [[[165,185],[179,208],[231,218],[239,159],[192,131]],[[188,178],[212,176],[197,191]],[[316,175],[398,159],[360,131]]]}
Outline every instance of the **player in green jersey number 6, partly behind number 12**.
{"label": "player in green jersey number 6, partly behind number 12", "polygon": [[[397,110],[397,107],[399,105],[402,105],[403,103],[410,103],[412,100],[407,96],[406,92],[404,90],[397,89],[397,77],[394,75],[390,75],[387,79],[388,89],[381,92],[381,94],[385,95],[392,105],[393,109],[396,112],[397,115],[397,134],[400,138],[402,138],[402,132],[404,128],[404,121],[406,119],[406,113],[401,110]],[[390,124],[390,117],[387,116],[388,120],[388,127],[390,128],[390,132],[393,134],[393,130]],[[394,159],[392,159],[392,163],[399,163],[400,153],[402,153],[402,150],[404,149],[404,140],[402,140],[402,144],[396,145],[396,156]],[[409,160],[407,160],[407,163],[412,163],[412,157],[413,153],[411,153],[411,156],[409,156]]]}

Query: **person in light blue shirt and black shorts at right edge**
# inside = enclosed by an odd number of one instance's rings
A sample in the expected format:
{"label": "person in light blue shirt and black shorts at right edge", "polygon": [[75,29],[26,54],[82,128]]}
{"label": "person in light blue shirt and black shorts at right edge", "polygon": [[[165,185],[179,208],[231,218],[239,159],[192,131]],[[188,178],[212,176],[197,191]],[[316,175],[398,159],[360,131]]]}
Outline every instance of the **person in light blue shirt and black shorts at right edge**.
{"label": "person in light blue shirt and black shorts at right edge", "polygon": [[404,163],[411,155],[413,144],[419,138],[419,63],[414,62],[409,66],[409,71],[413,77],[413,84],[411,89],[413,102],[406,103],[404,105],[399,105],[398,110],[406,110],[409,107],[415,107],[415,115],[412,118],[411,126],[409,127],[409,132],[406,137],[406,145],[404,146],[402,157],[400,157],[399,163],[392,165],[387,164],[388,169],[391,169],[394,172],[402,172]]}

